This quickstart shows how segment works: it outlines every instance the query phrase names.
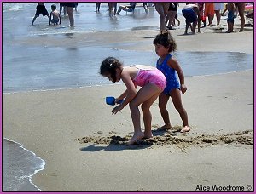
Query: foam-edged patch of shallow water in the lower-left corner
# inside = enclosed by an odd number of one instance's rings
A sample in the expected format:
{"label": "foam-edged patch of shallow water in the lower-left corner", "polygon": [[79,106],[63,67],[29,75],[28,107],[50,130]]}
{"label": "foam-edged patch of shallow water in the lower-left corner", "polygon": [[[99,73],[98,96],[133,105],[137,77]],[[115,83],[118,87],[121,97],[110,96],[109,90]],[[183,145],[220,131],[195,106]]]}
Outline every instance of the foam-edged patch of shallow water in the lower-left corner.
{"label": "foam-edged patch of shallow water in the lower-left corner", "polygon": [[3,140],[3,191],[41,191],[33,174],[44,169],[44,160],[14,141]]}

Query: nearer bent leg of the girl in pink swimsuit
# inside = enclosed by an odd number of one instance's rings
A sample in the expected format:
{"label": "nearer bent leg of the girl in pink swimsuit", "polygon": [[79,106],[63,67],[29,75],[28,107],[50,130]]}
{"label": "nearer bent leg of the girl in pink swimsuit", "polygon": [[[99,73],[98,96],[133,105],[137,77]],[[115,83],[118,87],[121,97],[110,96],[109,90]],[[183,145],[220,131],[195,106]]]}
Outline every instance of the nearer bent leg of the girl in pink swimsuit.
{"label": "nearer bent leg of the girl in pink swimsuit", "polygon": [[[131,138],[131,140],[128,142],[128,145],[132,145],[137,140],[143,139],[144,134],[141,128],[140,111],[138,109],[138,106],[143,104],[143,102],[151,99],[152,96],[154,96],[155,94],[160,94],[160,88],[155,86],[153,83],[148,83],[147,85],[143,86],[143,88],[141,88],[138,91],[136,97],[133,100],[131,100],[129,106],[131,110],[131,119],[134,126],[134,135]],[[150,126],[150,131],[151,131],[151,126]]]}

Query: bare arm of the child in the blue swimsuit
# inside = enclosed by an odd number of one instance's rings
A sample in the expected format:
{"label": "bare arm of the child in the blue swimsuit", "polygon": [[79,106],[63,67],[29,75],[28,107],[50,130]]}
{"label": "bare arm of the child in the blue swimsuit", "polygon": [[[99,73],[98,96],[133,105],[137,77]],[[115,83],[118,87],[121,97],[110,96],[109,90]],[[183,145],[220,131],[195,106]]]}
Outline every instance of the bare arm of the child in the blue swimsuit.
{"label": "bare arm of the child in the blue swimsuit", "polygon": [[172,69],[177,71],[177,75],[178,75],[179,82],[180,82],[180,88],[181,88],[182,93],[184,94],[187,91],[187,87],[185,85],[185,77],[184,77],[183,70],[182,70],[181,66],[179,66],[177,60],[173,57],[170,60],[168,60],[167,63],[168,63],[168,66],[171,66]]}

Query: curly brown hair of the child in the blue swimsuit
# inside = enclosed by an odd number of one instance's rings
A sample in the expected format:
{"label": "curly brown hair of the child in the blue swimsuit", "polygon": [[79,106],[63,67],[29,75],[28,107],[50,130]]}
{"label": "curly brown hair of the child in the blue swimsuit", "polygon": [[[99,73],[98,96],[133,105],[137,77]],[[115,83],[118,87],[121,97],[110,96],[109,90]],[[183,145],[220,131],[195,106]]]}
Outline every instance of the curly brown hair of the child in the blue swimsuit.
{"label": "curly brown hair of the child in the blue swimsuit", "polygon": [[177,50],[177,43],[172,37],[170,32],[158,34],[153,41],[153,44],[163,45],[165,48],[169,48],[169,52]]}

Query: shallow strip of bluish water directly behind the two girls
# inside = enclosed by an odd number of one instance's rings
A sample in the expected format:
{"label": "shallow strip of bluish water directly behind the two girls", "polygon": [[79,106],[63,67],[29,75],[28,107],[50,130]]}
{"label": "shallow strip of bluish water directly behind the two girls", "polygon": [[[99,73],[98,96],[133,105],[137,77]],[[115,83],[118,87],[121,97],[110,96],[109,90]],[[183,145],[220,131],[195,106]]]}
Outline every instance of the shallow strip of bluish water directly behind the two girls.
{"label": "shallow strip of bluish water directly behind the two girls", "polygon": [[[155,66],[154,52],[111,48],[16,48],[16,54],[3,58],[3,92],[44,89],[80,88],[109,84],[99,74],[99,66],[107,56],[115,56],[125,65]],[[38,50],[32,56],[26,53]],[[39,51],[41,50],[41,51]],[[44,55],[54,52],[55,62],[49,63]],[[9,50],[9,53],[12,52]],[[26,56],[25,56],[26,55]],[[65,57],[68,55],[69,57]],[[147,57],[145,57],[147,56]],[[174,56],[186,77],[204,76],[231,71],[253,69],[253,55],[238,52],[177,52]],[[33,60],[37,59],[37,60]]]}

